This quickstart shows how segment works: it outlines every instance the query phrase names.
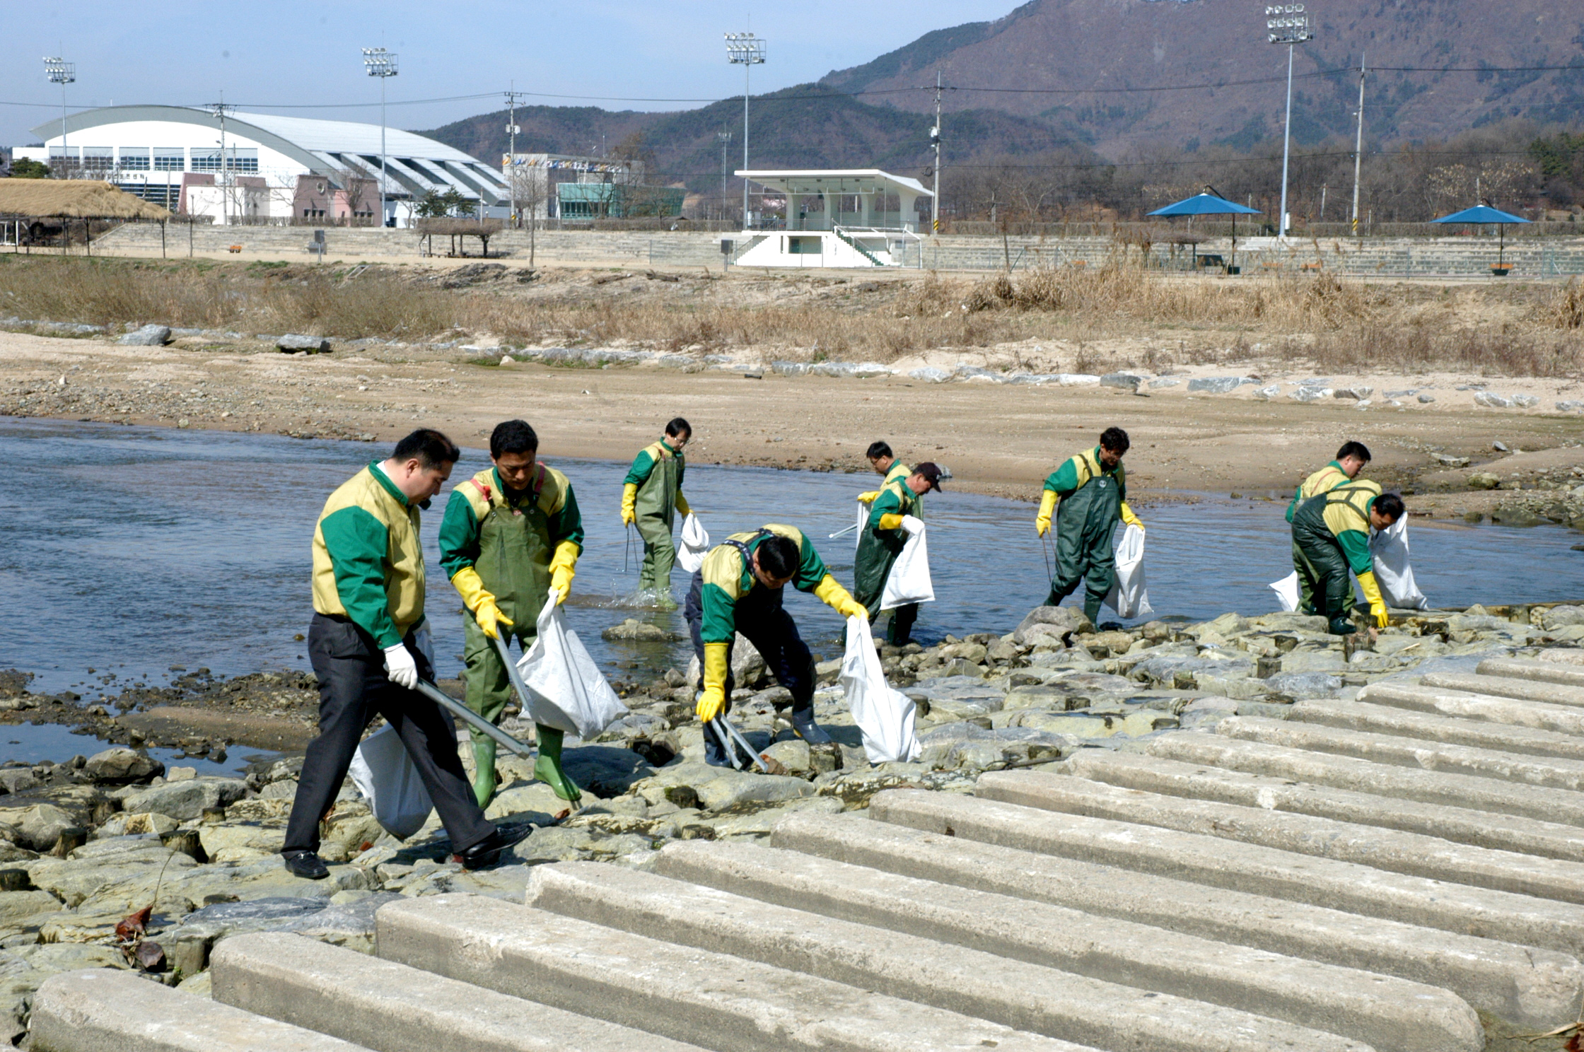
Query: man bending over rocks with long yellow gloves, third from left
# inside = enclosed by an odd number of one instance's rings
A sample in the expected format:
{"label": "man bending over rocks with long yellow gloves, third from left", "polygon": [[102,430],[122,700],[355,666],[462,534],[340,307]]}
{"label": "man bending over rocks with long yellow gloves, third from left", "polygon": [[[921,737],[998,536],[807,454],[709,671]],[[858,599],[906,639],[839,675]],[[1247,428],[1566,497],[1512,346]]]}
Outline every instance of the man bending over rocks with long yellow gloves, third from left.
{"label": "man bending over rocks with long yellow gloves, third from left", "polygon": [[[794,732],[811,745],[825,745],[830,735],[814,722],[814,658],[781,605],[789,583],[814,593],[844,618],[866,616],[863,604],[836,583],[802,531],[770,523],[754,532],[732,534],[710,550],[687,589],[684,615],[700,669],[695,711],[706,724],[732,711],[732,643],[741,632],[776,683],[792,692]],[[729,764],[708,727],[703,745],[706,762]]]}

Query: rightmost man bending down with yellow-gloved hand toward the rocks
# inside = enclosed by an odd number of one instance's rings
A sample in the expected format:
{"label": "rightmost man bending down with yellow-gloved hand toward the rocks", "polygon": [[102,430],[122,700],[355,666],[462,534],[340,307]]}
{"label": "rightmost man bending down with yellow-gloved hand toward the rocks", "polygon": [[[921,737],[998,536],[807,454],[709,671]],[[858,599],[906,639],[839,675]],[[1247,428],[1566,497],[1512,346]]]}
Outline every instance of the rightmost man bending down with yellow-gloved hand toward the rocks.
{"label": "rightmost man bending down with yellow-gloved hand toward the rocks", "polygon": [[[1386,627],[1391,615],[1375,581],[1370,558],[1370,531],[1386,529],[1402,518],[1402,497],[1381,493],[1367,478],[1318,493],[1293,513],[1293,548],[1299,580],[1315,596],[1334,635],[1353,632],[1353,577],[1359,578],[1370,604],[1375,627]],[[1372,629],[1373,631],[1373,629]]]}

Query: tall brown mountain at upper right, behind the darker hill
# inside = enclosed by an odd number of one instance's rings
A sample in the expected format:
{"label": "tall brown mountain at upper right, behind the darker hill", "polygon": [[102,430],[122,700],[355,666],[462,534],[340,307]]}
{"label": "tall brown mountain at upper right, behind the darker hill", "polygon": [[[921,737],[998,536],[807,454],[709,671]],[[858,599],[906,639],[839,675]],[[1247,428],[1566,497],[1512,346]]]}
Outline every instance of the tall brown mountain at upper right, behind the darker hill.
{"label": "tall brown mountain at upper right, behind the darker hill", "polygon": [[[1367,132],[1388,144],[1445,138],[1508,117],[1576,122],[1584,105],[1584,5],[1554,0],[1315,0],[1315,40],[1294,62],[1293,135],[1351,138],[1357,68]],[[936,73],[949,109],[1060,120],[1107,157],[1145,144],[1248,147],[1278,135],[1286,48],[1266,43],[1247,0],[1031,0],[993,22],[935,30],[821,84],[927,112]],[[1522,73],[1405,68],[1548,67]],[[1326,73],[1335,71],[1335,73]],[[1242,81],[1242,84],[1239,84]],[[1262,81],[1248,84],[1247,81]],[[1139,90],[1217,84],[1193,90]],[[919,89],[919,90],[906,90]],[[980,89],[980,90],[973,90]],[[993,89],[993,90],[985,90]],[[952,116],[942,120],[947,141]]]}

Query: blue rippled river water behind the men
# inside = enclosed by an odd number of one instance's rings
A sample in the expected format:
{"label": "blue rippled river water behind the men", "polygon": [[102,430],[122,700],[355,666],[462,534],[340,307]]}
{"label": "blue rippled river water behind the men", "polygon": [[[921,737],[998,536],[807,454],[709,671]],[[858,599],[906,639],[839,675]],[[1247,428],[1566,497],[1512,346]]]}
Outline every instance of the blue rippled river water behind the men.
{"label": "blue rippled river water behind the men", "polygon": [[[334,486],[386,452],[361,442],[0,418],[10,477],[0,490],[0,669],[35,673],[35,691],[74,689],[84,703],[133,683],[162,684],[179,675],[173,665],[215,675],[307,670],[306,648],[293,637],[307,631],[312,613],[314,523]],[[569,600],[572,627],[611,675],[648,678],[686,661],[684,643],[600,638],[626,616],[686,634],[680,610],[623,605],[640,556],[634,539],[623,570],[618,509],[627,464],[551,463],[572,480],[588,531]],[[485,452],[466,450],[451,480],[486,464]],[[714,540],[767,521],[790,523],[814,537],[836,578],[851,585],[852,534],[827,534],[852,523],[854,496],[876,482],[699,464],[687,472],[686,493]],[[425,516],[442,677],[461,667],[461,604],[436,550],[445,496]],[[1150,528],[1145,569],[1155,616],[1275,610],[1267,583],[1291,570],[1285,507],[1280,499],[1217,496],[1137,505]],[[947,483],[946,493],[925,499],[925,518],[938,602],[919,619],[920,642],[1006,632],[1044,599],[1033,505],[954,493]],[[1584,553],[1570,551],[1576,540],[1563,529],[1418,521],[1411,536],[1419,586],[1432,605],[1446,607],[1578,599]],[[678,570],[678,599],[686,586]],[[840,654],[833,612],[790,593],[787,605],[816,653]]]}

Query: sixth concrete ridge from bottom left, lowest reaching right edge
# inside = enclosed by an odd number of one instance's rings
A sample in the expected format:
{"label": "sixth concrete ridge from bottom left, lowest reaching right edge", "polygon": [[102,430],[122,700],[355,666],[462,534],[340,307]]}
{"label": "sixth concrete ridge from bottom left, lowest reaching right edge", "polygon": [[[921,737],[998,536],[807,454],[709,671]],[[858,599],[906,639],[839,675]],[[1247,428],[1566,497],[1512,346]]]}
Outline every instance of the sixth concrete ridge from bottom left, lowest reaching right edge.
{"label": "sixth concrete ridge from bottom left, lowest reaching right edge", "polygon": [[[863,814],[790,814],[776,848],[1451,990],[1516,1027],[1576,1017],[1584,965],[1555,951],[944,837]],[[744,894],[754,894],[743,889]]]}

